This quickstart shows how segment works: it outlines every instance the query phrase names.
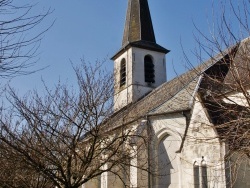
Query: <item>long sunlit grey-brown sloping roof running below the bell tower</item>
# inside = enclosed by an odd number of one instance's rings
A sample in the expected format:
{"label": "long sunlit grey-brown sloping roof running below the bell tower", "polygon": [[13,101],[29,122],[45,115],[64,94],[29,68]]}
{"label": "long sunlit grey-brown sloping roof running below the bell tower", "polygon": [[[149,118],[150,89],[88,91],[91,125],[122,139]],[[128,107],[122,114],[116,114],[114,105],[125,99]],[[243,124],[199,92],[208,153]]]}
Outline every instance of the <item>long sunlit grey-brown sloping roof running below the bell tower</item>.
{"label": "long sunlit grey-brown sloping roof running below the bell tower", "polygon": [[120,126],[148,115],[186,111],[192,108],[193,95],[200,84],[200,76],[222,59],[219,54],[198,67],[162,84],[135,103],[116,112],[108,124]]}

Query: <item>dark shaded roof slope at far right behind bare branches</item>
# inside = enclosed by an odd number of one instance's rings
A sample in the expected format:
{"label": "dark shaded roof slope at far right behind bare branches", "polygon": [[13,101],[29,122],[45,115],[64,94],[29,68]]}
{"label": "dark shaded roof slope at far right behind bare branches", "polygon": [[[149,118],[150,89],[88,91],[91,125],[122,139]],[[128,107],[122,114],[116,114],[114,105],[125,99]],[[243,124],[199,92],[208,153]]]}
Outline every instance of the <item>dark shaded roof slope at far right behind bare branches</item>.
{"label": "dark shaded roof slope at far right behind bare branches", "polygon": [[[247,38],[235,45],[231,53],[211,70],[205,71],[208,75],[204,76],[198,91],[219,138],[228,144],[229,151],[240,151],[247,156],[250,156],[250,115],[244,100],[248,98],[245,91],[250,88],[249,58],[250,38]],[[206,95],[207,92],[209,95]],[[242,99],[243,104],[225,100],[226,96],[239,93],[246,95]]]}

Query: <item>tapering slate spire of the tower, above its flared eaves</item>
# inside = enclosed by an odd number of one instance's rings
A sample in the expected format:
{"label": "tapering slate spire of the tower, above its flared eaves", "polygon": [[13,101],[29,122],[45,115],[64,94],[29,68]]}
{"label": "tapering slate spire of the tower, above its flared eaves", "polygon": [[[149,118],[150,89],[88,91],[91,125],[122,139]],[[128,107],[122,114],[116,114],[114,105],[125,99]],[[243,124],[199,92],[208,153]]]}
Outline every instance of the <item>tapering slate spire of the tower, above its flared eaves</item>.
{"label": "tapering slate spire of the tower, above its flared eaves", "polygon": [[141,40],[156,42],[148,1],[129,0],[122,46]]}

